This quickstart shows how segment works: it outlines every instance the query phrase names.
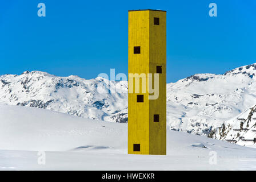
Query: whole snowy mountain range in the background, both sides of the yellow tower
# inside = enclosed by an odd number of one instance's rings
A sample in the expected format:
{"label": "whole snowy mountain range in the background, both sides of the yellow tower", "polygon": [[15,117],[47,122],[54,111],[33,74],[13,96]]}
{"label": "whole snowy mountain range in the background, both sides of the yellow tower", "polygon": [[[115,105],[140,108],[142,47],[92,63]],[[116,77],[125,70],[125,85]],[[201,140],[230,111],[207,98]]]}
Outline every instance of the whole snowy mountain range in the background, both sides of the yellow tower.
{"label": "whole snowy mountain range in the background, both sides of the yellow tower", "polygon": [[[223,122],[256,104],[256,64],[223,75],[196,74],[167,84],[167,126],[210,135]],[[79,117],[127,122],[127,82],[57,77],[33,71],[0,76],[0,104],[31,106]],[[105,93],[102,93],[102,90]],[[101,92],[99,92],[101,91]]]}

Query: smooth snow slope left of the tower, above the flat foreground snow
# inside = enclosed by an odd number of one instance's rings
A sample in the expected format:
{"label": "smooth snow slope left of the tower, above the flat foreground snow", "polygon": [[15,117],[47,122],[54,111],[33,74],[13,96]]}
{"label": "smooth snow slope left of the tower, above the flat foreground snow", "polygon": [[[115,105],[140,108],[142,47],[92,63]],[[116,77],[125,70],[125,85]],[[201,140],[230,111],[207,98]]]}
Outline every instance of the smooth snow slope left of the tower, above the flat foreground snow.
{"label": "smooth snow slope left of the tower, above the flat foreground snow", "polygon": [[66,151],[84,145],[122,148],[125,144],[119,141],[120,137],[126,138],[121,123],[0,105],[1,150]]}

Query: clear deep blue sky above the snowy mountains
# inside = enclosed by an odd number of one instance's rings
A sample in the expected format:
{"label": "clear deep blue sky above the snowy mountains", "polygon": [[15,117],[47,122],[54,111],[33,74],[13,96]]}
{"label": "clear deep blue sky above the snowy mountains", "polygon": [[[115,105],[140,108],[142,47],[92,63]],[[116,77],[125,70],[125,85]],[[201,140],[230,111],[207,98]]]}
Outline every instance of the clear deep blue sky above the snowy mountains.
{"label": "clear deep blue sky above the snowy mountains", "polygon": [[[38,3],[46,17],[37,15]],[[218,16],[209,16],[217,3]],[[167,11],[167,82],[256,63],[256,1],[1,1],[0,75],[127,74],[128,10]]]}

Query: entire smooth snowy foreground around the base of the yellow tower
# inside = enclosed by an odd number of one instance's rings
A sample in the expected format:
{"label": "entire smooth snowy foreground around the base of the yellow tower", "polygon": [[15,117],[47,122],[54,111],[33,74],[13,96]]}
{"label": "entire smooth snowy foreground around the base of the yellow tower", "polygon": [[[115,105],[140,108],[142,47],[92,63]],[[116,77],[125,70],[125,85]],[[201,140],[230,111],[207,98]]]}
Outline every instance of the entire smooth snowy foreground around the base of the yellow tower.
{"label": "entire smooth snowy foreground around the base of the yellow tower", "polygon": [[167,155],[127,155],[127,123],[0,105],[2,170],[254,170],[255,156],[255,148],[170,130]]}

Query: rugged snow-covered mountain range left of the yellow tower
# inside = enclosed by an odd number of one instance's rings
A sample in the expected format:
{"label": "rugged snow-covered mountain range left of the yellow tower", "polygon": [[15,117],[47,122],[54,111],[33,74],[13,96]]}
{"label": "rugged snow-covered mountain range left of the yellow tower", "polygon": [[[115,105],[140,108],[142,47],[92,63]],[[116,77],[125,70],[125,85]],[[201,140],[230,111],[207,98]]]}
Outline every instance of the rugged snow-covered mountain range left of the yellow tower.
{"label": "rugged snow-covered mountain range left of the yellow tower", "polygon": [[[113,81],[111,81],[113,83]],[[108,80],[57,77],[46,72],[0,76],[0,103],[38,107],[79,117],[127,122],[127,82],[115,82],[109,94]],[[106,93],[103,93],[106,92]],[[122,93],[122,94],[121,94]]]}

